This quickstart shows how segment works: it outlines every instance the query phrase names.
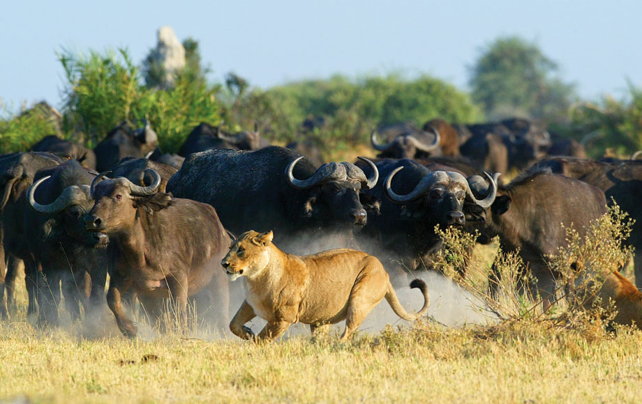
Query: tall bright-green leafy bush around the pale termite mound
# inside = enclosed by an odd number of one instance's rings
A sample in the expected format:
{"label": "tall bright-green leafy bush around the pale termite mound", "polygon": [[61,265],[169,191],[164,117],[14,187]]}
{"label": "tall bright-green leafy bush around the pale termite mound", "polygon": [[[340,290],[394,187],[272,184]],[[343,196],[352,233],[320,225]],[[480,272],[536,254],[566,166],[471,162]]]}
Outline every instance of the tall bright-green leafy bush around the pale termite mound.
{"label": "tall bright-green leafy bush around the pale termite mound", "polygon": [[91,52],[89,57],[64,51],[59,59],[67,79],[66,114],[75,130],[89,136],[90,146],[96,146],[121,121],[140,125],[146,118],[163,150],[172,152],[200,122],[220,120],[218,87],[209,86],[204,78],[195,79],[202,77],[202,71],[189,64],[177,75],[174,88],[161,90],[140,84],[140,70],[125,49],[118,54]]}

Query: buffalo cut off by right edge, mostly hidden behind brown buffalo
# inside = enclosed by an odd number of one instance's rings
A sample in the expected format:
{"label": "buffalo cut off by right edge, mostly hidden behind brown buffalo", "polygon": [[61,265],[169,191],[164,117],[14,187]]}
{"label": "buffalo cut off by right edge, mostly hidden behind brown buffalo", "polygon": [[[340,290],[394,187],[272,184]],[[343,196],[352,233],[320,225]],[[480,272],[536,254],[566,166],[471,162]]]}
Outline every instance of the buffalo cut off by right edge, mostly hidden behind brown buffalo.
{"label": "buffalo cut off by right edge, mostly hidden behind brown buffalo", "polygon": [[642,161],[596,162],[573,157],[548,157],[532,169],[551,169],[553,173],[560,173],[598,187],[606,194],[609,204],[614,200],[622,210],[635,219],[628,242],[636,249],[635,283],[642,289]]}

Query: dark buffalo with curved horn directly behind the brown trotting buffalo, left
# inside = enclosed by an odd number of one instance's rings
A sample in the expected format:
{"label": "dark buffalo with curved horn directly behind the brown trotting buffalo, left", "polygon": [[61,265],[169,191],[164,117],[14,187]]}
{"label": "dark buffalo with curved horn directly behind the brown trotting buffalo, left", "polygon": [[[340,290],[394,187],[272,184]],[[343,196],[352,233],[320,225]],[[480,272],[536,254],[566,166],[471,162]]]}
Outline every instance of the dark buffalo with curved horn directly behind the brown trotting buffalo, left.
{"label": "dark buffalo with curved horn directly behind the brown trotting buffalo, left", "polygon": [[71,160],[38,171],[27,192],[31,209],[25,212],[24,234],[38,267],[40,321],[58,324],[60,281],[74,320],[80,318],[79,303],[90,312],[103,302],[107,236],[87,232],[83,220],[94,205],[89,195],[94,177]]}

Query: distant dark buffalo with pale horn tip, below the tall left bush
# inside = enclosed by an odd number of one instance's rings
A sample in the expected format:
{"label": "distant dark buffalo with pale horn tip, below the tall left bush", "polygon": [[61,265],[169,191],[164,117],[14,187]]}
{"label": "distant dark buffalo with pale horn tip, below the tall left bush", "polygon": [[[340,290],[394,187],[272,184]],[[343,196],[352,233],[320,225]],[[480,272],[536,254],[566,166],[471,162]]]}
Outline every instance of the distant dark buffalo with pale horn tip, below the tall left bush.
{"label": "distant dark buffalo with pale horn tip, below the tall left bush", "polygon": [[94,148],[96,153],[96,169],[107,171],[122,158],[145,157],[158,146],[158,136],[149,123],[133,130],[127,122],[123,122],[107,134],[107,137]]}

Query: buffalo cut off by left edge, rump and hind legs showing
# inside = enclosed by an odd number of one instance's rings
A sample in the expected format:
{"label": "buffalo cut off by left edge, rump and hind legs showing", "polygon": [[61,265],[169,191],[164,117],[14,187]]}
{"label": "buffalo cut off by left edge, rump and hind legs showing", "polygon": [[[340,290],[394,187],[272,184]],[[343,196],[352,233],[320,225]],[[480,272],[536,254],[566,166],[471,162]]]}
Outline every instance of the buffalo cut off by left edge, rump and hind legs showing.
{"label": "buffalo cut off by left edge, rump and hind legs showing", "polygon": [[[66,161],[66,160],[65,160]],[[33,176],[40,169],[62,164],[64,161],[51,153],[29,152],[12,153],[0,157],[0,233],[3,248],[0,249],[0,316],[7,316],[7,306],[3,299],[7,286],[7,303],[13,304],[15,290],[15,270],[20,258],[24,261],[29,308],[27,314],[36,313],[36,263],[31,257],[27,238],[24,235],[24,212],[27,206],[25,194],[31,187]],[[6,267],[6,261],[9,265]],[[13,272],[7,272],[6,270]],[[4,279],[6,273],[6,279]]]}

